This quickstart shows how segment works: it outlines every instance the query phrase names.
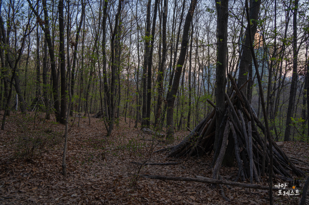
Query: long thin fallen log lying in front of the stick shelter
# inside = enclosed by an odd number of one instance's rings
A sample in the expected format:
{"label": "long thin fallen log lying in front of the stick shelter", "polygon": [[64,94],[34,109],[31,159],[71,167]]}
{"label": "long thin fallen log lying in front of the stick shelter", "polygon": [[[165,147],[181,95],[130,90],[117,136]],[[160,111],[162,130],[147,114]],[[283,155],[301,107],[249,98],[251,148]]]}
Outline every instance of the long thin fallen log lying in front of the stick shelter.
{"label": "long thin fallen log lying in front of the stick shelter", "polygon": [[[210,184],[224,184],[235,187],[244,187],[251,189],[260,189],[260,190],[269,190],[269,186],[263,186],[260,184],[246,184],[240,182],[231,182],[220,179],[202,179],[202,178],[191,178],[191,177],[171,177],[171,176],[163,176],[163,175],[139,175],[140,177],[148,178],[148,179],[158,179],[158,180],[171,180],[171,181],[184,181],[184,182],[200,182],[200,183],[210,183]],[[282,190],[280,188],[273,188],[273,191]],[[285,188],[285,190],[293,190]]]}

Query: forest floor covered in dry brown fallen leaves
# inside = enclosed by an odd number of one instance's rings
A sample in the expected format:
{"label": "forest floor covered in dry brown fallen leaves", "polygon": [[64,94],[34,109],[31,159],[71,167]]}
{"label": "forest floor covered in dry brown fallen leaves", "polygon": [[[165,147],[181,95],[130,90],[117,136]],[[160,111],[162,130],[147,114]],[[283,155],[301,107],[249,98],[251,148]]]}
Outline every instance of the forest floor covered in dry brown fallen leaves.
{"label": "forest floor covered in dry brown fallen leaves", "polygon": [[[33,114],[33,113],[32,113]],[[3,116],[3,111],[1,112]],[[179,162],[176,165],[147,165],[140,169],[140,174],[195,177],[201,175],[212,178],[209,166],[212,155],[191,159],[169,159],[164,153],[151,151],[166,147],[164,142],[145,141],[151,135],[134,128],[134,121],[125,123],[121,118],[114,127],[111,137],[106,137],[104,122],[100,119],[70,119],[68,135],[67,173],[61,175],[63,137],[65,126],[54,123],[54,119],[45,121],[40,129],[45,133],[60,133],[57,145],[49,148],[35,158],[32,163],[23,160],[20,154],[22,147],[16,147],[20,136],[29,133],[23,131],[24,120],[16,120],[20,113],[11,112],[7,118],[5,131],[0,132],[0,204],[268,204],[267,190],[256,190],[241,187],[228,189],[222,186],[225,201],[219,189],[211,189],[210,184],[161,181],[146,178],[134,179],[138,168],[131,162],[166,163]],[[72,119],[73,120],[73,119]],[[40,122],[37,119],[37,123]],[[33,123],[30,123],[33,127]],[[29,127],[28,127],[29,128]],[[176,131],[175,145],[188,131]],[[24,139],[24,138],[23,138]],[[163,140],[163,139],[161,139]],[[170,145],[168,145],[170,146]],[[153,147],[153,148],[152,148]],[[297,157],[309,163],[308,144],[303,142],[284,142],[282,148],[289,157]],[[297,164],[309,167],[305,163]],[[237,167],[222,167],[220,173],[226,180],[234,180]],[[263,178],[260,184],[266,185]],[[132,187],[132,184],[136,185]],[[243,182],[248,183],[248,182]],[[274,185],[286,183],[288,188],[293,184],[275,179]],[[302,193],[303,183],[295,189]],[[278,195],[273,192],[275,204],[298,204],[301,194]],[[308,200],[308,199],[307,199]]]}

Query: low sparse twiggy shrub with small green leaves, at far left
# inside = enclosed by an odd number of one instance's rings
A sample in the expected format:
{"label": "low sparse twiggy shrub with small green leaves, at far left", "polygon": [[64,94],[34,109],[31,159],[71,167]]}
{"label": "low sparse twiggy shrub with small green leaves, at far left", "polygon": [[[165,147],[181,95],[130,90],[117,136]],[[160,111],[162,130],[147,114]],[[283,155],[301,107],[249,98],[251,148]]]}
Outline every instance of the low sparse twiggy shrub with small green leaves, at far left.
{"label": "low sparse twiggy shrub with small green leaves, at far left", "polygon": [[33,162],[61,142],[63,133],[53,130],[40,116],[12,115],[10,121],[18,127],[12,141],[16,159]]}

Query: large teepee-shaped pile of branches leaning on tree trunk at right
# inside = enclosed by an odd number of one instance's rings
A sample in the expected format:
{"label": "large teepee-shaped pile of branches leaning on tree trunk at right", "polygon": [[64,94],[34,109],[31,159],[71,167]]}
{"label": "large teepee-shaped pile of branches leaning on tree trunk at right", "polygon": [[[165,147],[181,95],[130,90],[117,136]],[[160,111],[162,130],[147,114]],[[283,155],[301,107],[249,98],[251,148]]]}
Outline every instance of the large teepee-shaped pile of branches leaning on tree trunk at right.
{"label": "large teepee-shaped pile of branches leaning on tree trunk at right", "polygon": [[[260,182],[260,176],[265,175],[264,173],[268,173],[269,170],[269,144],[266,142],[266,136],[261,134],[265,133],[265,127],[259,121],[251,104],[241,91],[248,81],[237,88],[232,76],[230,74],[228,76],[233,85],[233,90],[230,96],[225,94],[226,109],[220,124],[220,127],[224,126],[225,129],[223,133],[219,133],[219,136],[222,137],[220,137],[214,153],[213,179],[218,179],[227,144],[233,143],[239,168],[235,180],[250,179],[252,183],[255,179],[256,182]],[[215,107],[214,103],[210,100],[207,101]],[[215,128],[216,111],[214,109],[180,144],[169,151],[166,157],[191,157],[210,154],[214,147]],[[289,178],[292,177],[291,174],[304,176],[304,172],[295,167],[273,140],[270,143],[273,145],[273,176],[275,176],[274,174]]]}

